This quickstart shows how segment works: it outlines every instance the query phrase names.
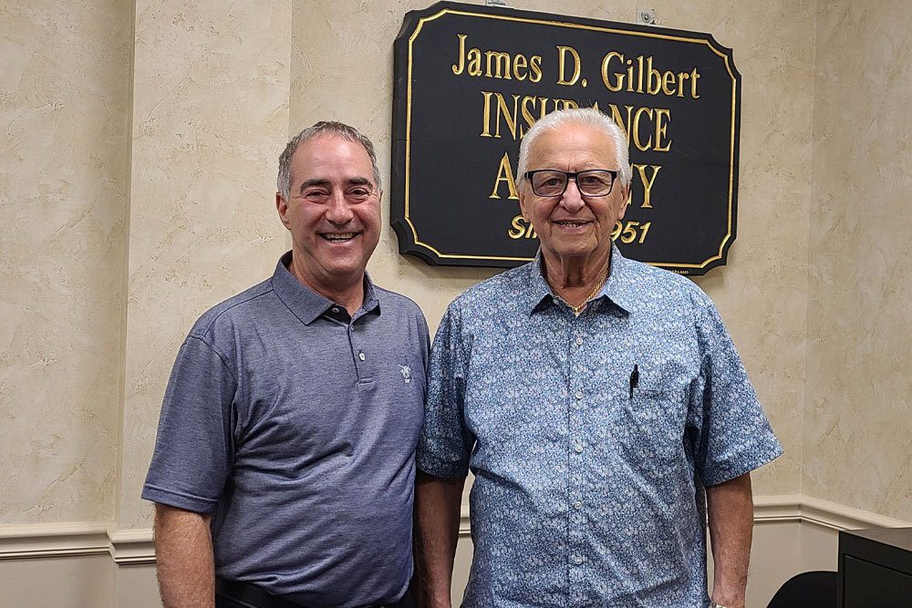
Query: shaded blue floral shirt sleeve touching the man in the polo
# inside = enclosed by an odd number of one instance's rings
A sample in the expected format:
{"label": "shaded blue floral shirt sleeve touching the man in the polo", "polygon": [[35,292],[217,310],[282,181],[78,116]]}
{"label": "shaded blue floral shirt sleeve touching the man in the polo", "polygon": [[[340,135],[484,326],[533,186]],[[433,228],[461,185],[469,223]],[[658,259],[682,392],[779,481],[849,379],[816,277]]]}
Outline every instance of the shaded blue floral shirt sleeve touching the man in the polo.
{"label": "shaded blue floral shirt sleeve touching the man in the polo", "polygon": [[466,350],[460,314],[451,304],[430,348],[424,426],[416,454],[418,468],[435,477],[459,478],[469,472],[474,438],[462,415]]}

